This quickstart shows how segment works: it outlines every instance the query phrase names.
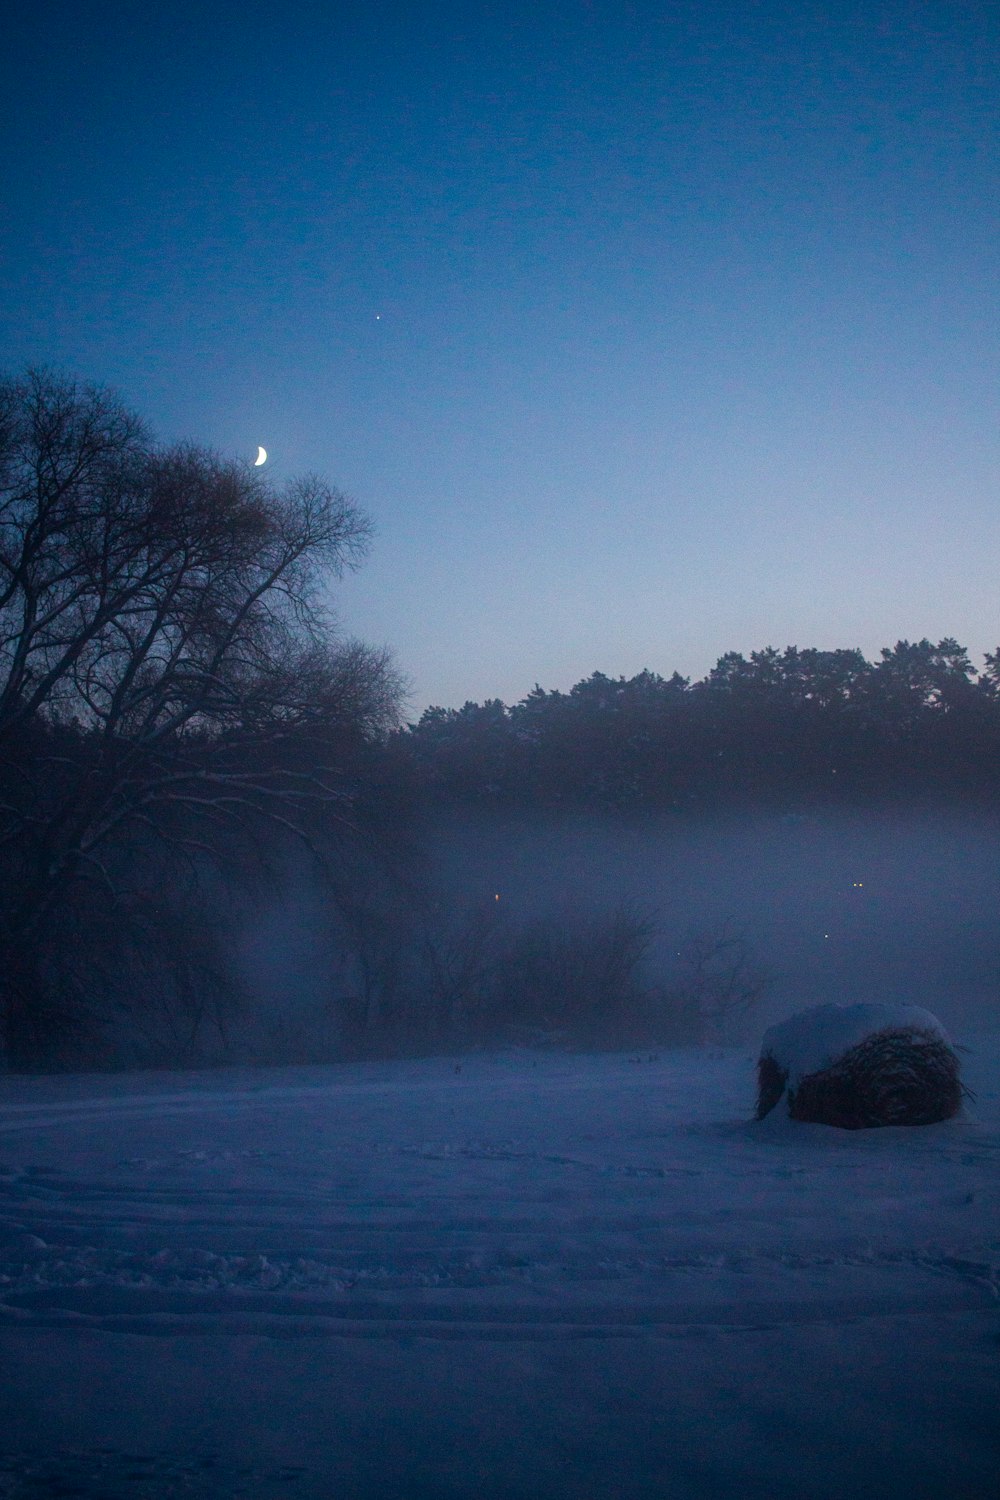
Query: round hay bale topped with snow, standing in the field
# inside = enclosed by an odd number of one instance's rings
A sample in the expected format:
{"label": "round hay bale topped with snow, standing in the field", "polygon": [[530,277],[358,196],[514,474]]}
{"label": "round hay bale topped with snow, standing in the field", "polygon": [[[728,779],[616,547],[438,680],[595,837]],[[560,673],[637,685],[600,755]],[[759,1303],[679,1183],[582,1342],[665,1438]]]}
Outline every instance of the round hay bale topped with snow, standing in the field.
{"label": "round hay bale topped with snow, standing in the field", "polygon": [[765,1032],[757,1119],[786,1095],[792,1119],[862,1130],[958,1113],[958,1058],[919,1005],[817,1005]]}

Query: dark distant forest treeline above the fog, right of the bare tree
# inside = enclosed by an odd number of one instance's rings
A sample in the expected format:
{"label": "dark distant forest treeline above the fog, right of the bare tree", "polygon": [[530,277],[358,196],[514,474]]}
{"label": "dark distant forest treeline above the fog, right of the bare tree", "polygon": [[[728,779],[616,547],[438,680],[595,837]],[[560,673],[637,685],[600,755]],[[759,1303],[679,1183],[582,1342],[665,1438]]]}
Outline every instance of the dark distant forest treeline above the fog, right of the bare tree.
{"label": "dark distant forest treeline above the fog, right of the bare tree", "polygon": [[603,672],[522,702],[429,708],[400,734],[432,801],[712,810],[996,800],[1000,651],[957,640],[730,651],[702,681]]}

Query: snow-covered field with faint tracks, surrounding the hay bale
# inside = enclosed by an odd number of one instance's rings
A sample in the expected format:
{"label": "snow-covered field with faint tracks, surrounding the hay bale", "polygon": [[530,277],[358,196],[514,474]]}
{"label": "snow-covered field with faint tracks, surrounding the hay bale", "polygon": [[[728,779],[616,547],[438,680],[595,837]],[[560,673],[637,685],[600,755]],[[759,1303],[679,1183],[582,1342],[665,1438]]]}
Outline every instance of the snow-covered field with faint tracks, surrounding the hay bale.
{"label": "snow-covered field with faint tracks, surrounding the hay bale", "polygon": [[0,1078],[0,1497],[987,1500],[1000,1038],[964,1119],[756,1054]]}

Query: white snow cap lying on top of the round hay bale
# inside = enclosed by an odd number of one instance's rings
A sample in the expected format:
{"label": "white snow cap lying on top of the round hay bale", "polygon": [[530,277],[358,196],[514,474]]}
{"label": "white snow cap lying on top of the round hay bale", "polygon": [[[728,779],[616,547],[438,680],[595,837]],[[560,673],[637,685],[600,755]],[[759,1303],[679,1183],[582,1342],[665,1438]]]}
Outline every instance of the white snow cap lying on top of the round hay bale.
{"label": "white snow cap lying on top of the round hay bale", "polygon": [[937,1016],[919,1005],[814,1005],[771,1026],[760,1056],[774,1058],[789,1076],[789,1088],[798,1089],[802,1078],[829,1068],[865,1036],[880,1030],[924,1030],[951,1046]]}

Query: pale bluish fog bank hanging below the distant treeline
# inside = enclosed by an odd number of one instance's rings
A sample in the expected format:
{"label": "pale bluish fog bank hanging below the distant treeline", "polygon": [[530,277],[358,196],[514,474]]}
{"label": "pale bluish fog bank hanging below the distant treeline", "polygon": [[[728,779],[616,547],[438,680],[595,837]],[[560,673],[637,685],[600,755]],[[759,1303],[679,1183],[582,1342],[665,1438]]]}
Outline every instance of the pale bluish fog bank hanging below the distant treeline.
{"label": "pale bluish fog bank hanging below the distant treeline", "polygon": [[[996,818],[942,808],[714,819],[451,810],[424,824],[406,891],[388,884],[381,900],[402,920],[417,890],[438,924],[487,912],[510,930],[627,909],[655,922],[642,966],[652,986],[676,982],[691,939],[742,939],[768,982],[727,1040],[753,1040],[805,1005],[873,999],[924,1005],[961,1035],[999,1014],[997,832]],[[337,1010],[357,984],[348,948],[304,868],[291,896],[255,912],[243,962],[271,1034],[277,1023],[307,1032],[322,1012],[333,1017],[322,1046],[336,1054]]]}

